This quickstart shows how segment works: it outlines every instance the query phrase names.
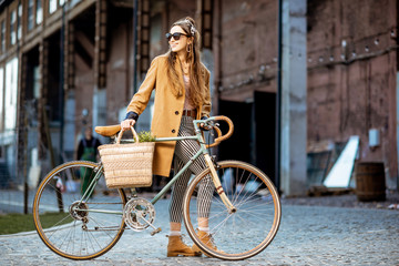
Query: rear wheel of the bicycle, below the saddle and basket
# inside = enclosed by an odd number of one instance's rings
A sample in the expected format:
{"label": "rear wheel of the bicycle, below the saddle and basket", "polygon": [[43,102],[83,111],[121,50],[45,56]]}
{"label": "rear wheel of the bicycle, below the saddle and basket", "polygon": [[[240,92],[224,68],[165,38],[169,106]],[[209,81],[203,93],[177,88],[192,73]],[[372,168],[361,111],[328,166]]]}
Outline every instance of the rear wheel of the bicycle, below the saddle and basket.
{"label": "rear wheel of the bicycle, below the saddle and basket", "polygon": [[35,228],[44,244],[63,257],[98,257],[115,245],[124,231],[126,196],[122,190],[94,191],[82,201],[82,190],[92,182],[96,184],[94,176],[103,178],[99,171],[92,162],[64,163],[52,170],[38,188],[33,202]]}

